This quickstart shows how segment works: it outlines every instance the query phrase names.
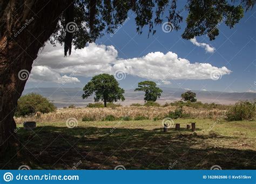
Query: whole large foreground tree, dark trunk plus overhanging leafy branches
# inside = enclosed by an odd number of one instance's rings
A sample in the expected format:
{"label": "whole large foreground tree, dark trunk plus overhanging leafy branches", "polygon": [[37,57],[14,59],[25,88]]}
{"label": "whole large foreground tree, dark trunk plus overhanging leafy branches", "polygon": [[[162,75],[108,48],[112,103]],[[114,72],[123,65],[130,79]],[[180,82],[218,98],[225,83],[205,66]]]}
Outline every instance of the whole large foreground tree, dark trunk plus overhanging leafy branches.
{"label": "whole large foreground tree, dark trunk plus overhanging leafy branches", "polygon": [[[103,36],[113,33],[124,23],[131,10],[137,32],[149,25],[149,34],[167,18],[167,29],[179,30],[181,7],[177,0],[5,0],[0,1],[0,154],[17,145],[14,113],[33,60],[47,40],[64,44],[64,55],[71,47],[83,48]],[[208,34],[218,36],[218,24],[233,27],[243,16],[243,9],[254,5],[253,0],[240,0],[234,5],[226,0],[188,0],[185,9],[187,27],[185,39]],[[165,11],[167,10],[167,11]],[[164,15],[164,13],[167,13]],[[22,75],[21,75],[22,74]]]}

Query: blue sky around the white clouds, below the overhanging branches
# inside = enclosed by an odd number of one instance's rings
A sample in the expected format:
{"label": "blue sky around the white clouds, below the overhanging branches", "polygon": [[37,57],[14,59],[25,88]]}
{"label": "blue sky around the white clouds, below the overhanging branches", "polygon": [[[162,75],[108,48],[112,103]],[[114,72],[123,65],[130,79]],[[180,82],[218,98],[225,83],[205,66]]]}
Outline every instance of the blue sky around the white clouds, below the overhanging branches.
{"label": "blue sky around the white clouds, below the overhanging branches", "polygon": [[[185,21],[186,12],[183,12],[182,15],[184,16]],[[189,60],[190,63],[209,63],[218,68],[225,66],[228,70],[232,71],[230,74],[221,76],[218,80],[195,80],[195,77],[192,77],[194,79],[168,79],[169,84],[160,83],[160,86],[209,91],[255,92],[256,13],[254,9],[245,12],[244,18],[242,18],[233,29],[230,29],[225,24],[221,24],[219,26],[220,34],[215,40],[210,41],[206,36],[196,38],[198,43],[205,43],[214,47],[215,51],[212,53],[206,52],[203,47],[194,45],[190,40],[184,40],[181,38],[181,34],[185,29],[185,22],[181,23],[181,29],[179,31],[172,31],[170,33],[165,33],[162,31],[161,26],[158,26],[156,34],[147,38],[148,27],[144,27],[143,34],[138,35],[132,13],[130,13],[129,18],[130,19],[127,20],[116,34],[112,37],[109,34],[106,34],[104,37],[96,41],[96,45],[113,46],[118,53],[117,57],[124,60],[141,58],[151,52],[162,52],[163,54],[172,52],[176,53],[178,58]],[[49,51],[50,49],[51,47],[47,46],[45,51]],[[69,57],[72,57],[72,54]],[[56,67],[55,71],[57,70],[58,69]],[[98,70],[100,72],[101,68],[98,68]],[[83,87],[91,79],[91,76],[83,76],[81,74],[76,76],[76,73],[70,75],[69,72],[63,71],[64,69],[58,70],[60,76],[68,75],[76,77],[79,82],[70,82],[63,86],[63,83],[60,82],[50,80],[41,80],[38,82],[36,79],[29,79],[29,82],[26,84],[26,88],[59,86]],[[120,80],[119,83],[121,87],[131,89],[135,88],[137,83],[143,80],[149,79],[132,75],[131,73],[126,73],[125,79]],[[157,82],[158,80],[154,81]]]}

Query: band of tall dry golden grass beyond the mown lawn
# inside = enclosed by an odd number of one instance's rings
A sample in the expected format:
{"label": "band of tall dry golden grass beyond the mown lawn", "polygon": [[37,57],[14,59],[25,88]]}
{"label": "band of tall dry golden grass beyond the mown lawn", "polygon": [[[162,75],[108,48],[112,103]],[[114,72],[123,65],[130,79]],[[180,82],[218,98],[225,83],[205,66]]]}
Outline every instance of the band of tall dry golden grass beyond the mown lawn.
{"label": "band of tall dry golden grass beyond the mown lawn", "polygon": [[[72,108],[72,109],[57,109],[56,112],[41,114],[37,112],[34,116],[17,117],[16,123],[24,121],[36,122],[57,122],[66,121],[68,118],[76,118],[80,121],[84,116],[101,121],[107,115],[113,115],[116,118],[130,116],[131,118],[144,116],[149,119],[165,118],[169,111],[174,111],[177,107],[117,107],[117,108]],[[224,114],[225,110],[198,110],[190,107],[184,107],[184,112],[190,114],[190,118],[212,118],[216,119]]]}

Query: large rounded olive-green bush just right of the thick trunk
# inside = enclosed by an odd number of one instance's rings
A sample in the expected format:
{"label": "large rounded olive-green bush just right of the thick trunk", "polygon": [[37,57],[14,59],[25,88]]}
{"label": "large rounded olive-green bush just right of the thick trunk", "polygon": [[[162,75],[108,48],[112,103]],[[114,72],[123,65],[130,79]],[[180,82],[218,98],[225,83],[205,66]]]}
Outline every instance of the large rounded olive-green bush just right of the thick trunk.
{"label": "large rounded olive-green bush just right of the thick trunk", "polygon": [[42,95],[30,93],[18,100],[15,116],[26,116],[36,112],[48,113],[56,110],[55,105]]}

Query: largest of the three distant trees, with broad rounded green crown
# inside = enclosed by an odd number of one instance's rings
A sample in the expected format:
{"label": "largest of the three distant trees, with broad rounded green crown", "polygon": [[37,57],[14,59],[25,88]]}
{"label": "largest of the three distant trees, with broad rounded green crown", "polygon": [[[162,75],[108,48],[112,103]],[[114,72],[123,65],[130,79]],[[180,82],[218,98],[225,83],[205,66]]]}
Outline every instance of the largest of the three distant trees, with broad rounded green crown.
{"label": "largest of the three distant trees, with broad rounded green crown", "polygon": [[114,79],[113,75],[100,74],[92,77],[84,87],[83,99],[95,94],[95,102],[103,101],[104,107],[107,102],[124,101],[124,89],[119,87],[119,83]]}

